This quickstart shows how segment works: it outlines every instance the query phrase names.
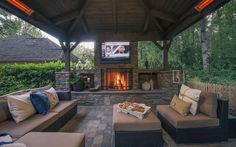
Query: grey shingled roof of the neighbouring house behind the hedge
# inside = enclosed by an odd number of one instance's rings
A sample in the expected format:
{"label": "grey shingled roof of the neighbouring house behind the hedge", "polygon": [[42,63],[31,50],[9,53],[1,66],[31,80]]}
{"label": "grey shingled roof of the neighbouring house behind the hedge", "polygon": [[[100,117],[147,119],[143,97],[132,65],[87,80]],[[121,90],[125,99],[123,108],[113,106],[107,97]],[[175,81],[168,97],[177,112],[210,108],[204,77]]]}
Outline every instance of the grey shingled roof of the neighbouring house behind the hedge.
{"label": "grey shingled roof of the neighbouring house behind the hedge", "polygon": [[[61,47],[48,38],[19,35],[0,39],[0,63],[48,62],[63,59]],[[77,57],[71,56],[72,61]]]}

